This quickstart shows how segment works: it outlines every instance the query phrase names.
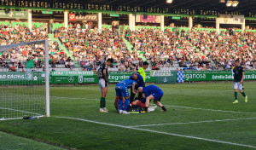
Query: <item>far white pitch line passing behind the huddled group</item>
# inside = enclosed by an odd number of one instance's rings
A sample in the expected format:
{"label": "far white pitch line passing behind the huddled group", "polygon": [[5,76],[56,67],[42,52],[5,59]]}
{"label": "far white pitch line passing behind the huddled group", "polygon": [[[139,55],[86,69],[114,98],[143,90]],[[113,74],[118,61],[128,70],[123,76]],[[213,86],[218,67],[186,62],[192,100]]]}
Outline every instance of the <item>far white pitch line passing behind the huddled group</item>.
{"label": "far white pitch line passing behind the huddled group", "polygon": [[[100,101],[99,99],[76,98],[76,97],[59,97],[59,96],[50,96],[50,97],[53,97],[53,98],[62,98],[62,99],[74,99],[74,100],[94,100],[94,101]],[[106,100],[106,101],[113,101],[113,100]],[[212,112],[247,113],[247,112],[224,111],[224,110],[206,109],[206,108],[196,108],[196,107],[182,107],[182,106],[175,106],[175,105],[165,105],[165,106],[166,106],[166,107],[180,107],[180,108],[186,108],[186,109],[203,110],[203,111],[212,111]],[[256,113],[249,113],[249,114],[256,114]]]}

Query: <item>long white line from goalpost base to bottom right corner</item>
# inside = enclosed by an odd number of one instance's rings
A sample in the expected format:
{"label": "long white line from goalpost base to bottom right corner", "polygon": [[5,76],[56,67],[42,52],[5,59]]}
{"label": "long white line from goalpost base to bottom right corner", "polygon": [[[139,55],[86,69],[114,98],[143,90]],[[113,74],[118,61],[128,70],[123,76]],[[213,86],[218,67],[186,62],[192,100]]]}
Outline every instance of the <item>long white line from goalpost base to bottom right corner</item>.
{"label": "long white line from goalpost base to bottom right corner", "polygon": [[163,135],[169,135],[169,136],[179,136],[179,137],[186,137],[186,138],[189,138],[189,139],[196,139],[196,140],[202,140],[202,141],[212,141],[212,142],[218,142],[218,143],[229,144],[229,145],[240,146],[240,147],[256,148],[255,146],[239,144],[239,143],[235,143],[235,142],[212,140],[212,139],[201,138],[201,137],[196,137],[196,136],[184,136],[184,135],[178,135],[178,134],[174,134],[174,133],[160,132],[160,131],[157,131],[157,130],[145,130],[145,129],[139,129],[139,128],[135,128],[135,127],[118,125],[118,124],[102,123],[102,122],[92,121],[92,120],[83,119],[83,118],[71,118],[71,117],[55,117],[55,118],[69,118],[69,119],[84,121],[84,122],[88,122],[88,123],[104,124],[104,125],[108,125],[108,126],[125,128],[125,129],[130,129],[130,130],[142,130],[142,131],[148,131],[148,132],[153,132],[153,133],[158,133],[158,134],[163,134]]}

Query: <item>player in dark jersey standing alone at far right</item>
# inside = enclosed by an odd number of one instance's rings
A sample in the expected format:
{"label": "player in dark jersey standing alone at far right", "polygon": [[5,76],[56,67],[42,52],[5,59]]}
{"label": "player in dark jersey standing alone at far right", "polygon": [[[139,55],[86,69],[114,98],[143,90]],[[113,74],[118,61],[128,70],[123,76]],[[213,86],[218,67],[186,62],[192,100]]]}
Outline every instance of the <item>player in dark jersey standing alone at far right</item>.
{"label": "player in dark jersey standing alone at far right", "polygon": [[235,92],[235,101],[233,102],[234,104],[238,103],[237,100],[237,89],[239,89],[241,95],[245,97],[245,102],[247,102],[247,95],[242,91],[242,83],[244,79],[244,69],[242,66],[239,64],[239,60],[235,61],[235,67],[233,68],[234,72],[234,92]]}

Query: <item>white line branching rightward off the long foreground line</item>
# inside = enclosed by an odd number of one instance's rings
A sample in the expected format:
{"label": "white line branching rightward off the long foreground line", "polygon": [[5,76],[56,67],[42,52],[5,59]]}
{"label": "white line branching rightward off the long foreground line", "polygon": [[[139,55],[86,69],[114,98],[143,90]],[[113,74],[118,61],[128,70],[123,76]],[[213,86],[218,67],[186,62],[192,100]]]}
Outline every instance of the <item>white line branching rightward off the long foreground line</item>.
{"label": "white line branching rightward off the long foreground line", "polygon": [[230,118],[230,119],[223,119],[223,120],[207,120],[207,121],[192,121],[188,123],[170,123],[170,124],[145,124],[145,125],[134,125],[129,127],[147,127],[147,126],[160,126],[160,125],[177,125],[177,124],[201,124],[201,123],[212,123],[212,122],[225,122],[225,121],[237,121],[237,120],[250,120],[256,118]]}

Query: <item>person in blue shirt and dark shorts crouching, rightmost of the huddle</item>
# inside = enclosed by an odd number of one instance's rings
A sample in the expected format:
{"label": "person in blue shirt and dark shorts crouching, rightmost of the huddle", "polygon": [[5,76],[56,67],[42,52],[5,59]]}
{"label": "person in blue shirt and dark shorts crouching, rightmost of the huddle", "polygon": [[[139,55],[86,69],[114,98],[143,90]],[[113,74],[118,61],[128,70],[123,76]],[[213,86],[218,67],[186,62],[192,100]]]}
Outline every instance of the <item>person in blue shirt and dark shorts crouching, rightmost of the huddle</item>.
{"label": "person in blue shirt and dark shorts crouching, rightmost of the huddle", "polygon": [[154,104],[156,104],[158,107],[161,107],[163,111],[166,111],[166,107],[164,107],[161,103],[160,100],[162,96],[164,95],[164,92],[162,89],[155,85],[148,85],[146,87],[139,87],[138,88],[139,93],[144,93],[145,94],[145,99],[143,99],[143,103],[145,103],[144,110],[147,111],[149,107],[149,102],[151,100],[154,100]]}

